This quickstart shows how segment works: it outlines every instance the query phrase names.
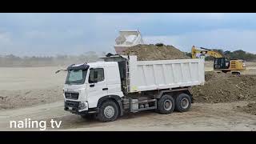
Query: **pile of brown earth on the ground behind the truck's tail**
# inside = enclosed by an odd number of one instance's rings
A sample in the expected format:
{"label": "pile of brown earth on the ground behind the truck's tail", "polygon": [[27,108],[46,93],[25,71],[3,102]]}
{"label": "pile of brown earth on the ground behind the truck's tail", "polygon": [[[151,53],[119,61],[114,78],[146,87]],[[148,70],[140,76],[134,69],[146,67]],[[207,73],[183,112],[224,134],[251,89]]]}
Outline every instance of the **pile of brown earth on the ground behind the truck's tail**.
{"label": "pile of brown earth on the ground behind the truck's tail", "polygon": [[195,102],[236,102],[256,100],[256,75],[232,75],[206,72],[204,86],[194,86]]}

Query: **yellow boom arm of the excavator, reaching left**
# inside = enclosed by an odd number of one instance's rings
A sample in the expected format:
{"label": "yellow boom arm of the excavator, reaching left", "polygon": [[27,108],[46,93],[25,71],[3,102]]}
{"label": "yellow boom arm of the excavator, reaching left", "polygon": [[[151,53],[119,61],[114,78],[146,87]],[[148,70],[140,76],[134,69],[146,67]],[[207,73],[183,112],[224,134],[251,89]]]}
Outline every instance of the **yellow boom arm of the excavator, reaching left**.
{"label": "yellow boom arm of the excavator, reaching left", "polygon": [[192,54],[192,58],[197,58],[196,57],[197,54],[202,54],[202,55],[207,54],[207,55],[212,56],[214,58],[224,58],[224,55],[222,55],[218,51],[206,49],[206,48],[203,48],[203,47],[200,47],[200,49],[197,49],[195,46],[192,46],[191,54]]}

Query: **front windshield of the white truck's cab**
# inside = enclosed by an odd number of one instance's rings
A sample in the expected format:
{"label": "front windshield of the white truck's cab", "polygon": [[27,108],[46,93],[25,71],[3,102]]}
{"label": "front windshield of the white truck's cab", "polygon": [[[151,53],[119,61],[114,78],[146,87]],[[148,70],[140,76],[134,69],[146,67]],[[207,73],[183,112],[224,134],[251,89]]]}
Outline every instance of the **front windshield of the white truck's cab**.
{"label": "front windshield of the white truck's cab", "polygon": [[86,79],[87,70],[69,70],[66,76],[66,84],[82,85]]}

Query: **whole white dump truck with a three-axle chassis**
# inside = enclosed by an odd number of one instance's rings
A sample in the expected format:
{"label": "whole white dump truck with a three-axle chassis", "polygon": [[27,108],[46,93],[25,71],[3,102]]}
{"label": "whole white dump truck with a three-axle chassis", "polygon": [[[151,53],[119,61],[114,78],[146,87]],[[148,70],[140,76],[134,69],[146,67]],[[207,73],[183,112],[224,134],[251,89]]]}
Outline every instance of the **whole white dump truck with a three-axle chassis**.
{"label": "whole white dump truck with a three-axle chassis", "polygon": [[205,82],[203,59],[137,61],[126,55],[102,59],[68,66],[64,110],[101,122],[142,110],[185,112],[193,103],[190,87]]}

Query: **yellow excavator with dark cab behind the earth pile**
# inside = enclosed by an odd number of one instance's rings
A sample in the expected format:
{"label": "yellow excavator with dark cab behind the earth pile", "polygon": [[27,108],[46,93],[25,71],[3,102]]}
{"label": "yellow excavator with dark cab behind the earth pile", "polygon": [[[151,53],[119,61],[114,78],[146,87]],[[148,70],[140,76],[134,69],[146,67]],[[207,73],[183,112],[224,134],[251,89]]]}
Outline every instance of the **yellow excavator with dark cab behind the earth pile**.
{"label": "yellow excavator with dark cab behind the earth pile", "polygon": [[192,46],[191,54],[192,58],[197,58],[197,54],[201,58],[205,58],[206,56],[214,57],[214,70],[222,71],[223,73],[231,72],[232,74],[240,74],[242,70],[246,70],[246,64],[243,60],[226,58],[224,54],[215,50]]}

